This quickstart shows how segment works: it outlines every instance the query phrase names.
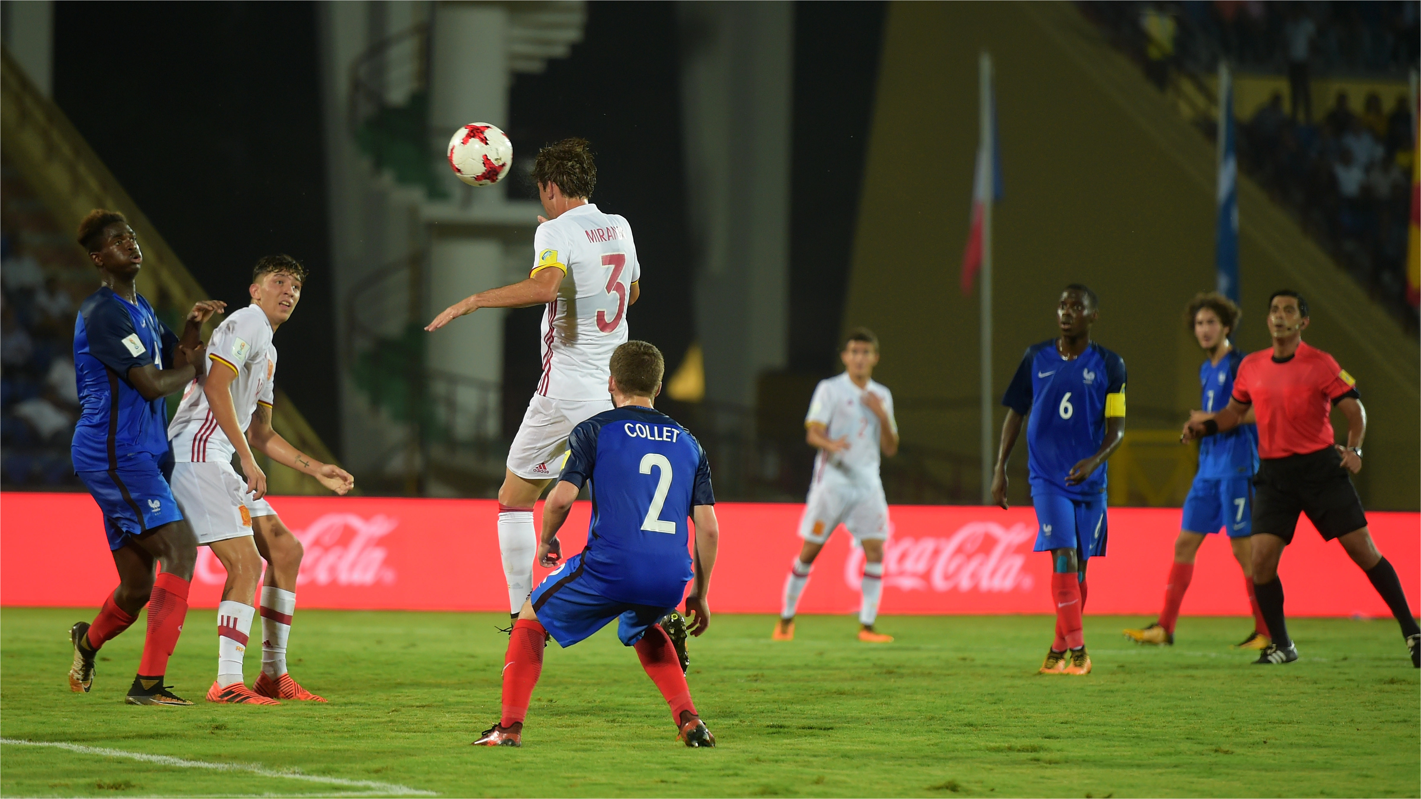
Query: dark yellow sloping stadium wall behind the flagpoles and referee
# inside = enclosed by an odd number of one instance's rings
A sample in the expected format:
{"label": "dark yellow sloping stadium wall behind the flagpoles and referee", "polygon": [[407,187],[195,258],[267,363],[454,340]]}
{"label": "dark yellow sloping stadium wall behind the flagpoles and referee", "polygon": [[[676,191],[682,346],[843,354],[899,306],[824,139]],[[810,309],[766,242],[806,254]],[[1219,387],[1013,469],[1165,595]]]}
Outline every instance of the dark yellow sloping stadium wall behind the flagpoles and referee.
{"label": "dark yellow sloping stadium wall behind the flagpoles and referee", "polygon": [[[1135,435],[1127,441],[1191,458],[1161,442],[1199,402],[1201,354],[1182,317],[1189,297],[1214,286],[1212,145],[1067,4],[894,3],[884,36],[843,321],[880,334],[875,378],[899,398],[904,438],[978,452],[978,296],[963,296],[958,281],[978,54],[986,48],[1005,172],[995,210],[993,394],[1029,344],[1054,334],[1061,286],[1081,281],[1101,297],[1096,340],[1130,372],[1127,428]],[[1363,500],[1417,509],[1417,343],[1248,181],[1239,205],[1241,347],[1268,345],[1263,306],[1273,289],[1309,294],[1306,340],[1357,377],[1370,412]],[[915,398],[935,402],[914,409]],[[1019,446],[1015,465],[1025,456]],[[1191,475],[1192,466],[1185,482]],[[1025,486],[1013,485],[1012,498],[1023,502]],[[1113,492],[1113,500],[1124,499]]]}

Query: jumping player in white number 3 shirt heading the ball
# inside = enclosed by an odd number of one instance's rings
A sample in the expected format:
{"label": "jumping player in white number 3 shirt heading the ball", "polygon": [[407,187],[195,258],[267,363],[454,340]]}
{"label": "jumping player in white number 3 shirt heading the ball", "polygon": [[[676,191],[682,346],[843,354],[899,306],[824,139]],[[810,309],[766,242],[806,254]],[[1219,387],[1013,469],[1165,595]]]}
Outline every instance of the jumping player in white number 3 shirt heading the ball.
{"label": "jumping player in white number 3 shirt heading the ball", "polygon": [[425,327],[439,330],[479,309],[547,306],[543,377],[509,446],[499,489],[499,552],[514,618],[533,590],[533,505],[557,476],[573,428],[611,409],[607,363],[627,341],[627,307],[641,294],[631,225],[588,202],[597,165],[587,141],[563,139],[540,149],[533,181],[547,216],[537,218],[529,277],[465,297]]}

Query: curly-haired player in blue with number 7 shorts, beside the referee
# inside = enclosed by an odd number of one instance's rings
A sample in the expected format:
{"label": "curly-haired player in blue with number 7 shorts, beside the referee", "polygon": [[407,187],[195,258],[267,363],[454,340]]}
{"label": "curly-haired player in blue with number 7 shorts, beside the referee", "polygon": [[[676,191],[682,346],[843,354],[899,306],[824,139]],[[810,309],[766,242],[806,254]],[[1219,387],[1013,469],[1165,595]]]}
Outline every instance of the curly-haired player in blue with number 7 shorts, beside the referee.
{"label": "curly-haired player in blue with number 7 shorts, beside the referee", "polygon": [[[1242,316],[1232,300],[1218,291],[1199,293],[1185,313],[1189,331],[1208,354],[1199,364],[1199,411],[1191,411],[1194,421],[1212,419],[1233,394],[1243,353],[1233,348],[1229,336]],[[1268,623],[1253,597],[1252,508],[1253,473],[1258,472],[1258,427],[1249,409],[1243,424],[1232,431],[1199,442],[1199,471],[1194,475],[1189,496],[1184,500],[1184,522],[1174,542],[1174,563],[1164,586],[1164,610],[1154,624],[1140,630],[1125,630],[1125,637],[1138,644],[1174,645],[1174,623],[1179,618],[1179,603],[1194,577],[1194,559],[1199,545],[1219,527],[1229,536],[1233,559],[1243,570],[1243,586],[1253,607],[1253,631],[1236,644],[1241,650],[1262,650],[1272,641]]]}

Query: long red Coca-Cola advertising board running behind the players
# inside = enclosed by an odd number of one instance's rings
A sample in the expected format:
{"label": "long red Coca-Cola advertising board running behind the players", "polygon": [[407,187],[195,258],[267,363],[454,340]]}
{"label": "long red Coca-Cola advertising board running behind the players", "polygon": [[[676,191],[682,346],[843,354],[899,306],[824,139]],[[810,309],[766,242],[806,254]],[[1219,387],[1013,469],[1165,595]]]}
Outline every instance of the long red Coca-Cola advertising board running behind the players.
{"label": "long red Coca-Cola advertising board running behind the players", "polygon": [[[301,607],[506,611],[499,559],[497,503],[480,499],[277,496],[271,505],[301,539]],[[722,503],[720,556],[710,607],[776,613],[801,505]],[[578,502],[563,527],[563,552],[587,539],[590,505]],[[539,509],[541,512],[541,509]],[[1050,562],[1033,553],[1030,508],[894,506],[884,614],[1049,613]],[[1401,576],[1412,608],[1421,593],[1417,513],[1368,513],[1371,535]],[[1090,614],[1158,613],[1179,529],[1179,510],[1111,508],[1107,557],[1091,559]],[[1185,614],[1243,616],[1243,577],[1222,536],[1199,550]],[[540,579],[547,570],[537,569]],[[800,613],[858,607],[863,550],[840,529],[814,564]],[[1366,574],[1307,523],[1280,569],[1293,616],[1385,617]],[[215,607],[226,573],[199,547],[190,601]],[[0,604],[87,606],[117,583],[102,519],[82,493],[0,495]]]}

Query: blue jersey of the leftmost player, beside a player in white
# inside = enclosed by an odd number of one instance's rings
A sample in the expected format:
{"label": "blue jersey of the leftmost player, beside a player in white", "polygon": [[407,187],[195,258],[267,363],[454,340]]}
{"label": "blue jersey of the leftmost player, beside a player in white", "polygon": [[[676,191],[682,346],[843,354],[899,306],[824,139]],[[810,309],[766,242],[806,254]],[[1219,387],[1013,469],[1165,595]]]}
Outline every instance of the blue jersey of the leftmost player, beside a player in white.
{"label": "blue jersey of the leftmost player, beside a player in white", "polygon": [[178,344],[142,294],[129,303],[107,286],[90,294],[74,320],[74,377],[80,421],[70,456],[75,472],[121,469],[128,458],[168,454],[168,402],[144,400],[128,370],[172,365]]}

